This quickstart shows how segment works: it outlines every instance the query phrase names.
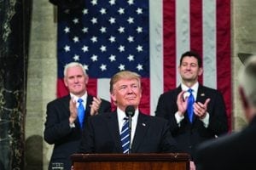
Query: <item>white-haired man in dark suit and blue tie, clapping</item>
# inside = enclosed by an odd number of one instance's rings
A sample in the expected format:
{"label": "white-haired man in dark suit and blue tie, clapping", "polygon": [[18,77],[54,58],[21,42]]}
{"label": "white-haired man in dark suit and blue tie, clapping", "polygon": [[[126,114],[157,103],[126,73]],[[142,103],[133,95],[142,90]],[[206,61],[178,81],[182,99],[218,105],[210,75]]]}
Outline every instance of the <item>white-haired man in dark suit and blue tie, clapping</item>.
{"label": "white-haired man in dark suit and blue tie, clapping", "polygon": [[[47,105],[44,139],[49,144],[55,144],[49,169],[55,163],[63,165],[64,169],[70,169],[70,156],[78,152],[87,117],[111,111],[110,102],[87,93],[88,79],[83,65],[77,62],[67,64],[64,69],[64,82],[70,94]],[[81,115],[84,117],[78,116],[79,99],[82,101]]]}

